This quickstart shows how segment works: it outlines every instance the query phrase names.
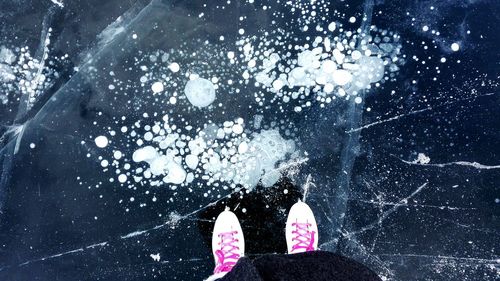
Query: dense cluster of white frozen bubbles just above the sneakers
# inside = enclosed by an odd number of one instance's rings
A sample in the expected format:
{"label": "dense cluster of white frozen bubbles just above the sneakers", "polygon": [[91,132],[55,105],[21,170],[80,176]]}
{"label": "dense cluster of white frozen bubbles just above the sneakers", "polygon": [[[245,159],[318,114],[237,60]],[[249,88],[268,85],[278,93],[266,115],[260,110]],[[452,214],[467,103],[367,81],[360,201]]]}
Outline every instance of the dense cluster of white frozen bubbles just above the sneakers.
{"label": "dense cluster of white frozen bubbles just above the sneakers", "polygon": [[[209,184],[225,182],[233,187],[253,188],[259,181],[273,185],[281,177],[277,163],[295,151],[294,141],[283,139],[278,130],[247,135],[244,128],[244,120],[238,118],[219,126],[208,124],[192,135],[190,126],[182,130],[168,115],[154,125],[137,122],[135,128],[121,130],[139,146],[131,159],[121,151],[113,153],[118,182],[166,184],[172,189],[195,179]],[[138,133],[140,130],[145,132]],[[108,139],[99,136],[95,142],[104,148]],[[131,164],[136,168],[131,169]],[[101,165],[107,169],[109,161],[104,159]]]}

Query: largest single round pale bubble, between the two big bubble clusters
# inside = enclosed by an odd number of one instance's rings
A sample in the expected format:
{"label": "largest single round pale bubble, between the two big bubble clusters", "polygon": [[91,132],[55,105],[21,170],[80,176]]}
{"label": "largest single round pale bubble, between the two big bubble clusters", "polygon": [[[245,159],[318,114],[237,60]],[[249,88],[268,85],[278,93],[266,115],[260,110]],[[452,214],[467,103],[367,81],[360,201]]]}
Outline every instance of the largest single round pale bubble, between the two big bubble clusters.
{"label": "largest single round pale bubble, between the two big bubble clusters", "polygon": [[195,78],[186,83],[184,94],[192,105],[206,107],[215,100],[215,87],[207,79]]}

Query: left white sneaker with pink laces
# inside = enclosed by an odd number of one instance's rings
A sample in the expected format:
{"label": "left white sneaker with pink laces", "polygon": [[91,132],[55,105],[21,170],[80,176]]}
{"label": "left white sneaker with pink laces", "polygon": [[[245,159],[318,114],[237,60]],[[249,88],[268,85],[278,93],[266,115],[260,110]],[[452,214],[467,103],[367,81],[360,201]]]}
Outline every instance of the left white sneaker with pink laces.
{"label": "left white sneaker with pink laces", "polygon": [[215,259],[213,277],[221,278],[233,269],[245,254],[245,238],[236,215],[226,209],[215,221],[212,234],[212,253]]}

